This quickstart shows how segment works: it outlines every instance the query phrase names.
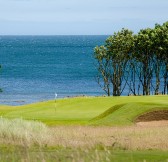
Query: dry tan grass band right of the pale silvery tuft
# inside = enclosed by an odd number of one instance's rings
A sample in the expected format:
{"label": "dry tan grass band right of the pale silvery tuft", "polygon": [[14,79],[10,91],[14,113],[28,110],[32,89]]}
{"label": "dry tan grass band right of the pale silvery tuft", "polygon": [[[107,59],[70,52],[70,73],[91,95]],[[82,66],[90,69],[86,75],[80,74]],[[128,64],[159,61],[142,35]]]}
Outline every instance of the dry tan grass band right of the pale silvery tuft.
{"label": "dry tan grass band right of the pale silvery tuft", "polygon": [[51,145],[73,148],[100,146],[122,150],[168,150],[168,123],[147,127],[60,126],[52,128],[52,131],[54,138]]}

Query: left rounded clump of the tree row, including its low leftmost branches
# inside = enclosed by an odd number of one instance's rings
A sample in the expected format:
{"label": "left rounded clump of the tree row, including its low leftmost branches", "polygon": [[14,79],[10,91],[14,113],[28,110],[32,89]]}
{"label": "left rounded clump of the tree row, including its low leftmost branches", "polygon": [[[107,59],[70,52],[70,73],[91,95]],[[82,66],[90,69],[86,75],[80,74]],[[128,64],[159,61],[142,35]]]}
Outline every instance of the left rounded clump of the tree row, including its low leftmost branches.
{"label": "left rounded clump of the tree row, including its low leftmost branches", "polygon": [[132,31],[122,29],[110,36],[104,46],[97,46],[94,50],[94,57],[98,63],[98,83],[108,96],[111,93],[113,96],[120,96],[126,86],[126,82],[123,82],[129,54],[133,49],[132,34]]}

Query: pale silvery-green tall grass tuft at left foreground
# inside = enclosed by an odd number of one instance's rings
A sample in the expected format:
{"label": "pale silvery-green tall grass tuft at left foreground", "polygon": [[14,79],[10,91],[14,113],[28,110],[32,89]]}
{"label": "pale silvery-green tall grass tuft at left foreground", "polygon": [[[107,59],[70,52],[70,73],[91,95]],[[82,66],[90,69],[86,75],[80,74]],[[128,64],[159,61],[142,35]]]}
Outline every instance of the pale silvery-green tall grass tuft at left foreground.
{"label": "pale silvery-green tall grass tuft at left foreground", "polygon": [[41,122],[0,117],[0,143],[21,146],[44,145],[49,140],[49,130]]}

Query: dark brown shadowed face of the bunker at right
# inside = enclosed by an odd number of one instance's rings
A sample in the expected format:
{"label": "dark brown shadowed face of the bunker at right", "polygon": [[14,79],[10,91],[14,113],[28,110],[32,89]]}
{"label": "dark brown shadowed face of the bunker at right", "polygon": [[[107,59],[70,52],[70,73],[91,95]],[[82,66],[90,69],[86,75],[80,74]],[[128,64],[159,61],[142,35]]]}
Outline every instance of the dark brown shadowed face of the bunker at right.
{"label": "dark brown shadowed face of the bunker at right", "polygon": [[145,113],[136,118],[135,122],[168,120],[168,110],[157,110]]}

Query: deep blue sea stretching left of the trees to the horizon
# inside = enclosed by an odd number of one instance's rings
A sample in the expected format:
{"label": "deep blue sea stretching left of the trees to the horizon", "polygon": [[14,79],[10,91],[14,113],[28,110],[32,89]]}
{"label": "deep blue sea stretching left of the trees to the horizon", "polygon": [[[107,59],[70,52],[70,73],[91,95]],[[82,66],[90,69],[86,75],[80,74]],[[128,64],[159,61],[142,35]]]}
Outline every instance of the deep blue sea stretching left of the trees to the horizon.
{"label": "deep blue sea stretching left of the trees to the horizon", "polygon": [[108,36],[0,36],[0,104],[103,95],[93,52]]}

